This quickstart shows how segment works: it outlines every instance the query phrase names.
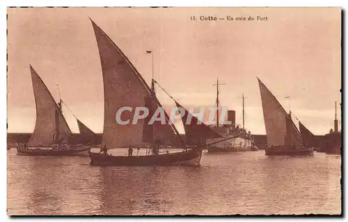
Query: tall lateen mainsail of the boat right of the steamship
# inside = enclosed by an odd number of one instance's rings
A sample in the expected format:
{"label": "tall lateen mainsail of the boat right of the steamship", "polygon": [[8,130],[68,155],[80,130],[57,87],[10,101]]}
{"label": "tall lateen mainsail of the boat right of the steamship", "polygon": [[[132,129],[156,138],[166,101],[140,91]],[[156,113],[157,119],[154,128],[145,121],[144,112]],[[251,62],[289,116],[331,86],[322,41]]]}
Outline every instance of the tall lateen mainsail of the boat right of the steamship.
{"label": "tall lateen mainsail of the boat right of the steamship", "polygon": [[303,141],[299,130],[294,125],[294,122],[292,122],[290,116],[260,79],[258,79],[258,82],[268,147],[272,145],[295,145],[296,148],[303,148]]}

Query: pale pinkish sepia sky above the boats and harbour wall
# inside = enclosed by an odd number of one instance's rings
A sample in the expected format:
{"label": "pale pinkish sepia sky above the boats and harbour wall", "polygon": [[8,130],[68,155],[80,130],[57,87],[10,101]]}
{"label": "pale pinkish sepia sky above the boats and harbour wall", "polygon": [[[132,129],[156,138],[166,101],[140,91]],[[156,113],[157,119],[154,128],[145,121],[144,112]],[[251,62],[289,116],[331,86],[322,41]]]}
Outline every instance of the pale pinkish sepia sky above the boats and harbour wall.
{"label": "pale pinkish sepia sky above the boats and harbour wall", "polygon": [[[72,132],[78,132],[74,116],[102,132],[102,69],[88,17],[149,84],[145,51],[152,50],[155,79],[183,106],[214,106],[219,78],[226,84],[221,105],[235,110],[241,124],[244,93],[246,128],[265,134],[258,77],[314,134],[333,128],[335,101],[340,120],[340,8],[8,8],[8,132],[35,126],[29,64],[56,101],[58,84]],[[174,105],[159,88],[157,95],[164,106]]]}

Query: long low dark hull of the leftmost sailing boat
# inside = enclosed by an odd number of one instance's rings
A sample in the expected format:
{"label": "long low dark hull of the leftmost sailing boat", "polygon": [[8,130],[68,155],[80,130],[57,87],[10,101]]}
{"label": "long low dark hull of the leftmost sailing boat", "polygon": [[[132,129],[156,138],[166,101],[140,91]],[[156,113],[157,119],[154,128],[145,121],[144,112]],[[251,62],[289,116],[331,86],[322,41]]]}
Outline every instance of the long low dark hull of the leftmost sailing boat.
{"label": "long low dark hull of the leftmost sailing boat", "polygon": [[88,156],[90,146],[81,146],[81,148],[68,150],[45,150],[45,149],[25,149],[17,148],[17,155],[19,156]]}

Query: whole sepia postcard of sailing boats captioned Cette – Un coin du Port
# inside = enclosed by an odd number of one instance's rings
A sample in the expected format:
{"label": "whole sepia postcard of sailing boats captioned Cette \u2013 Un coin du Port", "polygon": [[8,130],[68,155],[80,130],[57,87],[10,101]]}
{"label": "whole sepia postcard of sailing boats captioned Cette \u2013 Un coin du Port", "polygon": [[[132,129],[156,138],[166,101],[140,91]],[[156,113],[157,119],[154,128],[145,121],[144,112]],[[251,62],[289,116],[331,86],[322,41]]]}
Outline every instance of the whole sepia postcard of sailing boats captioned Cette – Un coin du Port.
{"label": "whole sepia postcard of sailing boats captioned Cette \u2013 Un coin du Port", "polygon": [[341,215],[341,8],[8,8],[7,214]]}

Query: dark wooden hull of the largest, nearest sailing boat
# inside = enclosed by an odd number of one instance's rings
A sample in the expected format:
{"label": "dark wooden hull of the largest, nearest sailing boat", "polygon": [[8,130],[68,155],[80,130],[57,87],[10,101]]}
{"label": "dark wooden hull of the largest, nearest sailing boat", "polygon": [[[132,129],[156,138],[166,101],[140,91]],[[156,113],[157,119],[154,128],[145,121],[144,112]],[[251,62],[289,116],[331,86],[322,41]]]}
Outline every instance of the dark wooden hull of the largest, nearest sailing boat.
{"label": "dark wooden hull of the largest, nearest sailing boat", "polygon": [[198,166],[202,157],[202,150],[188,150],[169,154],[148,156],[111,156],[88,152],[90,165],[93,166]]}

